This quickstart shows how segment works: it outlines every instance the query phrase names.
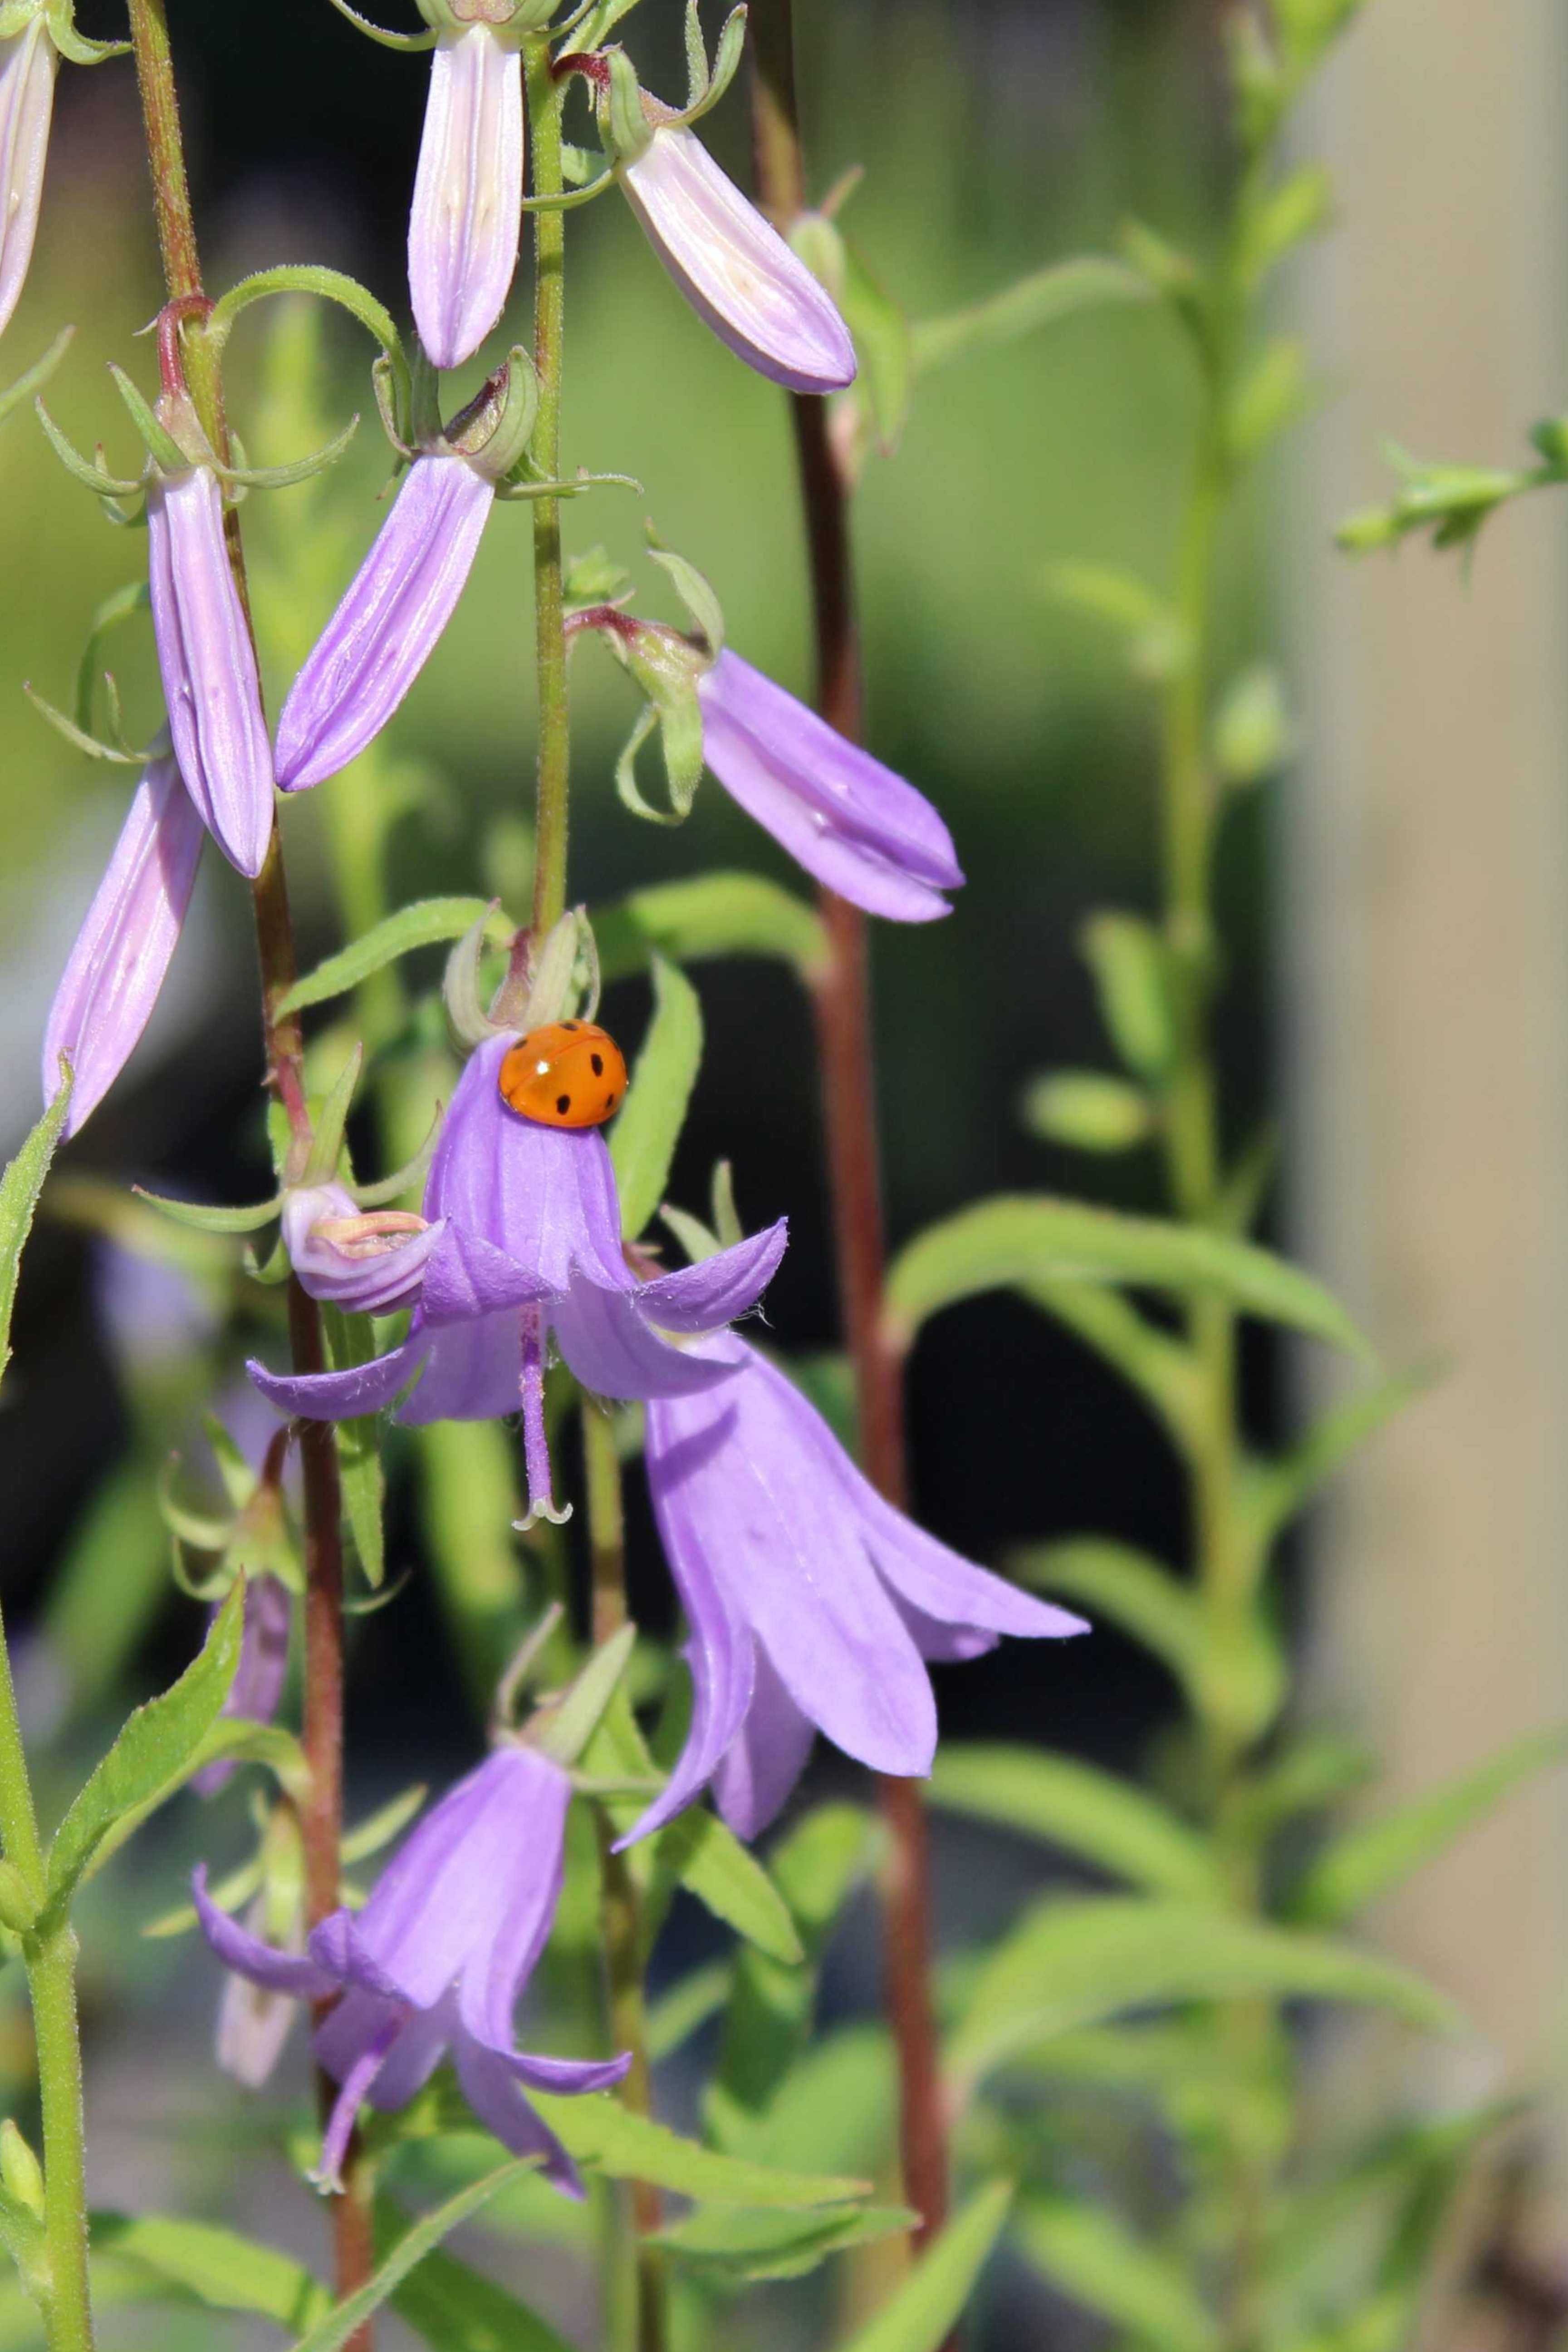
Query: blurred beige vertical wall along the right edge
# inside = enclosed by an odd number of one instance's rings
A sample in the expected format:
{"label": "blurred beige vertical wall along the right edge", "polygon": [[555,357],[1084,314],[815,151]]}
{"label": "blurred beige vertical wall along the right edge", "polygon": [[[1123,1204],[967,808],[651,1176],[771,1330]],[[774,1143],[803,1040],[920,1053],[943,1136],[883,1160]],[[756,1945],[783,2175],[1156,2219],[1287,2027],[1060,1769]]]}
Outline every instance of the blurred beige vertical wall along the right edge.
{"label": "blurred beige vertical wall along the right edge", "polygon": [[[1340,223],[1305,289],[1338,400],[1291,581],[1295,1237],[1392,1359],[1446,1367],[1319,1519],[1316,1677],[1401,1795],[1568,1717],[1568,494],[1495,522],[1469,581],[1425,543],[1352,564],[1328,532],[1387,494],[1382,435],[1516,463],[1568,409],[1566,33],[1563,0],[1373,0],[1305,141]],[[1568,1773],[1382,1924],[1537,2072]]]}

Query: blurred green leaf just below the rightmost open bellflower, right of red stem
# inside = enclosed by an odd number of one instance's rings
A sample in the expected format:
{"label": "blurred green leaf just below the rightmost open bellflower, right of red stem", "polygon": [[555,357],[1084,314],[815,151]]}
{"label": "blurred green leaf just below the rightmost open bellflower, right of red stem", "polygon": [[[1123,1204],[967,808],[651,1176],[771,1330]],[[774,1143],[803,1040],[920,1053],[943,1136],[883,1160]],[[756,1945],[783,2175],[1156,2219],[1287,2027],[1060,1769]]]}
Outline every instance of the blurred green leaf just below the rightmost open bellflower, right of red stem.
{"label": "blurred green leaf just below the rightmost open bellflower, right of red stem", "polygon": [[1225,1905],[1225,1875],[1185,1820],[1074,1757],[1037,1748],[943,1748],[931,1771],[931,1802],[1046,1837],[1150,1893]]}

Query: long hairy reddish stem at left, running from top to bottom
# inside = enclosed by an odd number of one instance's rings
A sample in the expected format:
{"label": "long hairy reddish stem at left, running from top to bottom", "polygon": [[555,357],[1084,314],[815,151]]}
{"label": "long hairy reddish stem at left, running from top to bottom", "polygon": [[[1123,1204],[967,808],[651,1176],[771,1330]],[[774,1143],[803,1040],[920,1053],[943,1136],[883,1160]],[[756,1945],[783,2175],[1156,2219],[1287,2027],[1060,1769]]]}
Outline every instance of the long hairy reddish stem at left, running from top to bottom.
{"label": "long hairy reddish stem at left, running from top to bottom", "polygon": [[[169,301],[195,303],[202,299],[202,266],[186,183],[165,0],[129,0],[129,14],[165,285]],[[216,456],[228,461],[223,390],[214,355],[200,329],[183,336],[183,360],[202,430]],[[244,546],[240,539],[240,515],[233,506],[226,515],[226,539],[240,602],[249,614]],[[280,1101],[299,1105],[306,1096],[303,1035],[299,1016],[280,1011],[282,997],[294,985],[296,957],[277,816],[273,816],[273,840],[266,863],[252,884],[252,901],[261,962],[261,1025],[268,1080]],[[296,1371],[324,1371],[322,1322],[315,1301],[294,1279],[289,1282],[289,1343]],[[327,1423],[306,1423],[299,1444],[306,1486],[303,1745],[310,1764],[310,1795],[301,1806],[301,1832],[306,1846],[306,1907],[310,1924],[315,1924],[339,1905],[339,1844],[343,1835],[343,1538],[339,1456],[331,1428]],[[322,2098],[329,2098],[324,2079],[317,2089]],[[343,2178],[348,2183],[346,2194],[331,2201],[331,2234],[339,2293],[353,2293],[374,2267],[369,2187],[364,2169],[355,2161],[353,2152]],[[369,2352],[369,2345],[371,2331],[367,2326],[355,2333],[350,2352]]]}

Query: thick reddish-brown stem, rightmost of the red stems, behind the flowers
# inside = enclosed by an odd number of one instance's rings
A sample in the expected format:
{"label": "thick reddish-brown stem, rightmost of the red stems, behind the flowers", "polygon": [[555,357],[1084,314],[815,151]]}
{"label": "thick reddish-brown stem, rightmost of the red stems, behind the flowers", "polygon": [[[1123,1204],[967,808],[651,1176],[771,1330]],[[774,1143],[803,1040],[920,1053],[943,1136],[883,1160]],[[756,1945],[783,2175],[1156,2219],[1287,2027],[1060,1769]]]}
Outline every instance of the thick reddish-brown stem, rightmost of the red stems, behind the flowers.
{"label": "thick reddish-brown stem, rightmost of the red stems, behind the flowers", "polygon": [[[757,188],[773,223],[788,230],[804,207],[790,0],[757,0],[752,42]],[[849,485],[832,454],[825,402],[797,393],[792,409],[811,562],[818,708],[842,736],[860,741],[860,640]],[[903,1508],[907,1501],[903,1364],[882,1331],[886,1254],[865,915],[832,891],[820,894],[820,910],[830,960],[816,983],[813,1002],[839,1298],[860,1409],[860,1458],[879,1494]],[[922,2218],[917,2244],[924,2244],[947,2213],[947,2133],[931,2016],[931,1849],[919,1783],[884,1778],[879,1795],[891,1846],[882,1886],[884,1992],[898,2049],[905,2194]]]}

